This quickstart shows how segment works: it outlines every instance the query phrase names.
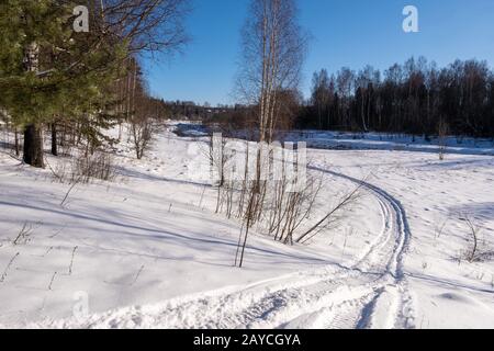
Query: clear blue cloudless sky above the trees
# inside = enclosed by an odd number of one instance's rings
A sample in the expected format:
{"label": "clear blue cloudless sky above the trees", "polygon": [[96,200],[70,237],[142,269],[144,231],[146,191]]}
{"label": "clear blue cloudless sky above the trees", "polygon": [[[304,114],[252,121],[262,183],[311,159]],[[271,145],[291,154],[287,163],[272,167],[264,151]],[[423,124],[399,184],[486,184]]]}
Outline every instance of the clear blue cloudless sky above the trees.
{"label": "clear blue cloudless sky above the trees", "polygon": [[[151,93],[165,100],[234,103],[239,31],[250,0],[191,0],[187,20],[191,43],[167,60],[145,64]],[[312,39],[302,91],[312,73],[367,64],[385,69],[420,55],[440,67],[454,59],[494,65],[493,0],[299,0],[300,23]],[[419,33],[405,33],[403,8],[417,7]]]}

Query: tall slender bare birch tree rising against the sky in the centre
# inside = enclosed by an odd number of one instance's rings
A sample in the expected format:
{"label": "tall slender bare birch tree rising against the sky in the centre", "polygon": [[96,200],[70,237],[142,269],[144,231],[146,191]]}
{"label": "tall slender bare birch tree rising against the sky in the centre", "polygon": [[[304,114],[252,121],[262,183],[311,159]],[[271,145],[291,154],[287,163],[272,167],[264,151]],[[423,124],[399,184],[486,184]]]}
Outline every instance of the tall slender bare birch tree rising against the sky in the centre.
{"label": "tall slender bare birch tree rising against the sky in the centre", "polygon": [[[257,106],[257,132],[260,144],[272,143],[280,113],[280,98],[295,91],[302,71],[307,35],[297,23],[294,0],[251,0],[242,31],[242,64],[236,90],[240,100]],[[240,233],[235,263],[244,262],[250,227],[260,218],[266,199],[266,181],[261,181],[265,165],[258,148],[255,179],[249,182],[244,230]]]}

